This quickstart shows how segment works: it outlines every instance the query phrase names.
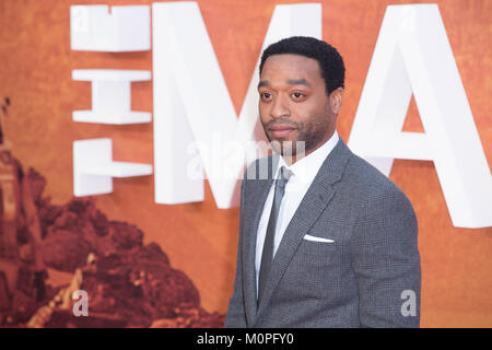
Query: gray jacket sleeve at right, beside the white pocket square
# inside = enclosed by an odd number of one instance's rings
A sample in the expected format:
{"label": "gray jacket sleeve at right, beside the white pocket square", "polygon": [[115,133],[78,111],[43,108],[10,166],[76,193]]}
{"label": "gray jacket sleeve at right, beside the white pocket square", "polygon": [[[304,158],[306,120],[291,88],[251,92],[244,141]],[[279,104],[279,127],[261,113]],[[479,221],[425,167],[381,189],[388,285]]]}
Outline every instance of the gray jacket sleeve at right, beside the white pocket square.
{"label": "gray jacket sleeve at right, beside the white pocket square", "polygon": [[362,206],[351,235],[362,327],[419,327],[421,265],[413,208],[390,187]]}

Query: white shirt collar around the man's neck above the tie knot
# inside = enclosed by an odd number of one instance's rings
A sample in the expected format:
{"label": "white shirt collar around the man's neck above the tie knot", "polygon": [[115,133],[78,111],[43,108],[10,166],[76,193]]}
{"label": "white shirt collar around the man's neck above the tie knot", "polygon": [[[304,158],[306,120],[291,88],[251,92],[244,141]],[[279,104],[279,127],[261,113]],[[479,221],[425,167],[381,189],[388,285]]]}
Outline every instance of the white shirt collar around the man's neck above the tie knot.
{"label": "white shirt collar around the man's neck above the tie knot", "polygon": [[274,178],[279,178],[280,167],[285,166],[289,168],[293,176],[297,177],[304,184],[311,184],[321,167],[325,159],[330,154],[331,150],[337,145],[339,136],[337,130],[321,147],[317,148],[312,153],[307,154],[303,159],[300,159],[291,166],[286,165],[283,156],[279,156],[279,162],[276,171]]}

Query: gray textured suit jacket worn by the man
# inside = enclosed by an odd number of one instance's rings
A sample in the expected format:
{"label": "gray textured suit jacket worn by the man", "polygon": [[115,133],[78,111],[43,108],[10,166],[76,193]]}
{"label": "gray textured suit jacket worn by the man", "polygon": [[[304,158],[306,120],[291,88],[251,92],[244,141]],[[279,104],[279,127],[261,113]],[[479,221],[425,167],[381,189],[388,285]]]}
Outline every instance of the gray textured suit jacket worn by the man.
{"label": "gray textured suit jacket worn by the man", "polygon": [[[255,247],[272,179],[241,192],[234,293],[225,327],[419,327],[417,219],[405,194],[340,139],[285,230],[257,306]],[[265,177],[263,177],[265,178]],[[304,235],[333,243],[303,240]]]}

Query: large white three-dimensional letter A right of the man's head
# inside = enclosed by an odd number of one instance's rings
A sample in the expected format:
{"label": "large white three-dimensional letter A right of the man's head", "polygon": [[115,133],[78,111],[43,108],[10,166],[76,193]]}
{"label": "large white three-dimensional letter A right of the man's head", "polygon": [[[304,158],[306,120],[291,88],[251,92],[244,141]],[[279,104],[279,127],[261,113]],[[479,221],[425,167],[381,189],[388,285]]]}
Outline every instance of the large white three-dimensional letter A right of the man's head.
{"label": "large white three-dimensional letter A right of the man's head", "polygon": [[[425,133],[401,131],[414,95]],[[436,4],[389,5],[349,139],[385,175],[434,162],[455,226],[492,226],[492,178]]]}

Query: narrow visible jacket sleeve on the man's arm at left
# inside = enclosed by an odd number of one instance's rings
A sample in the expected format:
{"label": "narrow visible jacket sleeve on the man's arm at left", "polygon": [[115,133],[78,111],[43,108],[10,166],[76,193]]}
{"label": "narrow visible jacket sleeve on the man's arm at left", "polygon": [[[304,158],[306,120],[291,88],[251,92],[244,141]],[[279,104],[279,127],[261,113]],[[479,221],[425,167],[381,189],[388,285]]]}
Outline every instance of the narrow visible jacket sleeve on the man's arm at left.
{"label": "narrow visible jacket sleeve on the man's arm at left", "polygon": [[244,187],[246,179],[241,184],[241,209],[239,209],[239,237],[237,242],[237,262],[236,276],[234,279],[234,292],[229,302],[227,314],[225,315],[226,328],[245,328],[246,327],[246,312],[243,298],[243,210],[244,210]]}

